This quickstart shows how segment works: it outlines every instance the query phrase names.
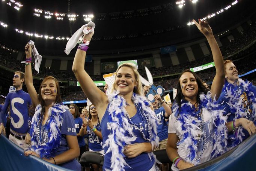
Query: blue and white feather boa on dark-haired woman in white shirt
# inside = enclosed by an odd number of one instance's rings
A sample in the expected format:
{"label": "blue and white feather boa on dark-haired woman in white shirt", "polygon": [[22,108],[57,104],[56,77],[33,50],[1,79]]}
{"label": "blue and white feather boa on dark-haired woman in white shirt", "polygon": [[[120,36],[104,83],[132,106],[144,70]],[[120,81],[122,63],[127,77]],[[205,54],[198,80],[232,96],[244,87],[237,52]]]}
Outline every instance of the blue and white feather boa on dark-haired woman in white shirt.
{"label": "blue and white feather boa on dark-haired woman in white shirt", "polygon": [[[199,128],[202,120],[198,117],[201,108],[203,108],[203,110],[208,110],[211,113],[210,120],[214,125],[214,144],[211,158],[226,152],[227,146],[226,117],[223,116],[223,110],[221,110],[217,101],[212,101],[210,92],[206,95],[203,93],[200,94],[200,106],[198,111],[195,110],[190,102],[182,100],[181,111],[179,112],[178,104],[175,103],[173,105],[173,114],[175,114],[175,117],[182,125],[181,135],[183,135],[183,138],[177,143],[177,147],[188,149],[185,161],[193,163],[194,165],[199,164],[194,160],[195,158],[198,158],[196,137],[203,134],[203,131]],[[199,119],[195,119],[195,117]]]}

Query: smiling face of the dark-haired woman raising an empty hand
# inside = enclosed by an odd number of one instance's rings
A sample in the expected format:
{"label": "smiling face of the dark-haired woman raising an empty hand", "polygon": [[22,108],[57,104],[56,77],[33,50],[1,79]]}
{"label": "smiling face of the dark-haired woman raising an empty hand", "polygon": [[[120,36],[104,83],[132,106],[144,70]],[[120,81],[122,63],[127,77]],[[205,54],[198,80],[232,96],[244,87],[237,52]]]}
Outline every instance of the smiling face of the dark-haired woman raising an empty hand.
{"label": "smiling face of the dark-haired woman raising an empty hand", "polygon": [[183,73],[179,79],[179,83],[185,99],[190,101],[195,100],[198,93],[198,85],[194,75],[190,72]]}

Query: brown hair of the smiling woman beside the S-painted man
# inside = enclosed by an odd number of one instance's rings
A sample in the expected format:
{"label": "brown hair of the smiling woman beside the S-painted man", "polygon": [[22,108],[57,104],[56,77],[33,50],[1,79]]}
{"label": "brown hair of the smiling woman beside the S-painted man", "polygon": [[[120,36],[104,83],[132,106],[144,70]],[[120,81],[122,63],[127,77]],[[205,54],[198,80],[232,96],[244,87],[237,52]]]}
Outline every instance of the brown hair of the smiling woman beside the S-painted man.
{"label": "brown hair of the smiling woman beside the S-painted man", "polygon": [[62,100],[61,100],[61,97],[60,97],[60,86],[59,86],[59,82],[57,81],[56,78],[54,78],[53,76],[48,76],[48,77],[45,77],[44,80],[42,81],[40,87],[39,87],[39,92],[38,92],[38,99],[39,99],[39,102],[41,104],[41,106],[45,106],[45,102],[42,98],[42,94],[41,94],[41,89],[42,89],[42,86],[43,84],[48,80],[48,79],[53,79],[56,83],[56,88],[57,88],[57,95],[56,95],[56,100],[55,100],[55,103],[61,103],[62,104]]}

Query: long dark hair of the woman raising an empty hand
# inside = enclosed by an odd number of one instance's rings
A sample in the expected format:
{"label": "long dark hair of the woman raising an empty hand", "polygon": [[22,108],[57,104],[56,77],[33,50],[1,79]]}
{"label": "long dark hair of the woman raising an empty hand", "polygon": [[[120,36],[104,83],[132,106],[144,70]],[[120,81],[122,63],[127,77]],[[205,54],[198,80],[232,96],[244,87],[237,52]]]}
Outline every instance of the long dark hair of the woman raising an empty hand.
{"label": "long dark hair of the woman raising an empty hand", "polygon": [[[197,92],[197,102],[199,101],[199,95],[203,92],[204,94],[207,93],[207,90],[205,88],[205,86],[203,85],[202,83],[202,80],[199,78],[199,76],[197,76],[196,73],[186,69],[184,70],[180,75],[179,75],[179,79],[181,78],[181,76],[186,73],[186,72],[189,72],[189,73],[192,73],[193,76],[195,77],[196,79],[196,83],[197,83],[197,86],[198,86],[198,92]],[[186,100],[184,95],[182,94],[182,90],[181,90],[181,83],[179,82],[179,79],[178,79],[178,83],[177,83],[177,94],[176,94],[176,97],[174,99],[174,103],[177,103],[178,106],[179,106],[179,113],[181,111],[181,101],[182,100]],[[187,100],[186,100],[187,101]],[[179,113],[178,113],[178,116],[179,116]]]}

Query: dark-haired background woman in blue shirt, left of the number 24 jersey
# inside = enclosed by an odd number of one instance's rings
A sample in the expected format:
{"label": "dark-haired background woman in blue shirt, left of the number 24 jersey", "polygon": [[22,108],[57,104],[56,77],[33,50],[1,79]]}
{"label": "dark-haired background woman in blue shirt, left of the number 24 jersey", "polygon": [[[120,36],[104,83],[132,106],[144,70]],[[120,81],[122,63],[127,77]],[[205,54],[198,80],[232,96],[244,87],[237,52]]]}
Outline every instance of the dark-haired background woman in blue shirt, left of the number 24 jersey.
{"label": "dark-haired background woman in blue shirt, left of the number 24 jersey", "polygon": [[85,145],[83,136],[86,132],[85,126],[86,126],[87,120],[84,117],[83,119],[79,117],[79,109],[76,104],[69,105],[69,112],[73,115],[75,119],[75,130],[77,132],[77,140],[80,148],[80,155],[78,157],[78,161],[80,161],[82,154],[86,152],[86,145]]}

